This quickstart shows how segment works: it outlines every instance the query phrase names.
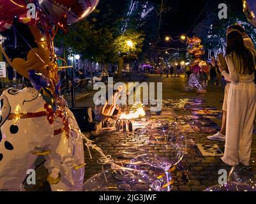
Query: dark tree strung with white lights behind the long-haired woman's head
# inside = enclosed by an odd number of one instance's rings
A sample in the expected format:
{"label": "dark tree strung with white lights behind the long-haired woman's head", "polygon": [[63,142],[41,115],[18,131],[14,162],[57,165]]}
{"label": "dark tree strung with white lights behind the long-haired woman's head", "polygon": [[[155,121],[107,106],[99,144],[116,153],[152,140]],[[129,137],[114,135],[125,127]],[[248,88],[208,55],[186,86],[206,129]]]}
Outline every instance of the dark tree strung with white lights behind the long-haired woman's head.
{"label": "dark tree strung with white lights behind the long-haired woman's head", "polygon": [[206,50],[208,50],[208,58],[211,56],[216,57],[219,52],[223,52],[226,46],[226,31],[227,27],[232,24],[241,24],[245,27],[246,33],[252,38],[253,43],[256,45],[256,29],[248,23],[243,13],[242,3],[230,1],[227,3],[228,18],[218,18],[218,4],[221,1],[212,1],[208,4],[204,19],[197,24],[193,33],[202,39]]}

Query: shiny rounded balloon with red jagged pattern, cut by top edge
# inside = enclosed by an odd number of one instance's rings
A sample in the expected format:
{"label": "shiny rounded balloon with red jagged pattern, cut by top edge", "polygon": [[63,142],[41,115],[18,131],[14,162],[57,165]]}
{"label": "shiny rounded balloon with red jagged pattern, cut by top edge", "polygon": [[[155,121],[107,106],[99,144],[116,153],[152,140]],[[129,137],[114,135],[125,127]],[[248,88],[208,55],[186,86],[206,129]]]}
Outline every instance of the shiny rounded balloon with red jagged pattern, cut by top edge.
{"label": "shiny rounded balloon with red jagged pattern, cut by top edge", "polygon": [[42,0],[40,1],[41,11],[49,21],[49,24],[56,24],[66,27],[67,24],[74,24],[87,17],[97,6],[100,0]]}

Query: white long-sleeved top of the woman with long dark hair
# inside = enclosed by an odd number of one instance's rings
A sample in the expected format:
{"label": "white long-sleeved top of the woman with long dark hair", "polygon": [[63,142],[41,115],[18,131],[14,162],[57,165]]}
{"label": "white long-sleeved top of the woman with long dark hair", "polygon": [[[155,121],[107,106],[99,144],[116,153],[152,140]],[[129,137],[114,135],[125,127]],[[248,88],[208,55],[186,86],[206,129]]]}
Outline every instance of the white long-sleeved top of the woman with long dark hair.
{"label": "white long-sleeved top of the woman with long dark hair", "polygon": [[[256,51],[253,50],[254,54],[256,55]],[[237,58],[236,54],[234,54],[234,57],[232,58],[230,55],[227,55],[225,57],[225,60],[227,62],[227,66],[229,68],[229,73],[227,71],[222,71],[222,75],[225,77],[226,80],[229,82],[239,82],[239,81],[250,81],[254,79],[254,72],[252,75],[242,75],[241,73],[238,73],[238,67],[240,66],[239,59]],[[255,64],[255,57],[253,55],[253,61]],[[255,65],[256,68],[256,65]]]}

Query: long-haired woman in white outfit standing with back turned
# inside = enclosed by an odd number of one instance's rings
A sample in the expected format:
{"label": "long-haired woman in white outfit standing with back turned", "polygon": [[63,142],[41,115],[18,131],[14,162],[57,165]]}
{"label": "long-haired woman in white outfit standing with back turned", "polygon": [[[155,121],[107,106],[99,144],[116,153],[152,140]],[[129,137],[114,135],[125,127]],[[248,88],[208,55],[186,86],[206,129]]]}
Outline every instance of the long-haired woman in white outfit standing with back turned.
{"label": "long-haired woman in white outfit standing with back turned", "polygon": [[231,82],[227,99],[227,129],[222,161],[229,165],[250,165],[256,89],[253,82],[255,51],[247,48],[239,31],[227,35],[225,59],[229,68],[222,71]]}

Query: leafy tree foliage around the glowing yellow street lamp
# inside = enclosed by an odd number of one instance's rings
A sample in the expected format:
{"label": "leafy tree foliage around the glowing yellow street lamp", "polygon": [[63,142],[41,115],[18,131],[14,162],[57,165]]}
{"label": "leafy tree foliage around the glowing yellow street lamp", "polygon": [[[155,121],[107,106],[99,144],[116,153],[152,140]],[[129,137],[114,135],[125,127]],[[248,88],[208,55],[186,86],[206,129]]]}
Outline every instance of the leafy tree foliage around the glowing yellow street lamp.
{"label": "leafy tree foliage around the glowing yellow street lamp", "polygon": [[[144,4],[154,9],[141,18]],[[131,15],[127,15],[130,0],[100,1],[96,10],[89,17],[68,27],[68,33],[59,32],[55,43],[58,47],[68,48],[68,54],[80,54],[83,59],[102,63],[117,62],[119,57],[126,59],[142,58],[149,50],[149,42],[153,41],[158,32],[152,29],[158,25],[161,1],[139,0]],[[163,5],[164,11],[169,6]],[[121,33],[121,28],[127,22],[127,29]],[[127,47],[131,40],[134,46]],[[127,57],[128,53],[130,57]],[[132,57],[133,55],[133,57]]]}

